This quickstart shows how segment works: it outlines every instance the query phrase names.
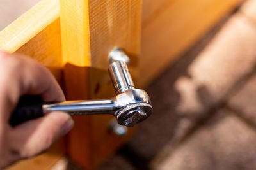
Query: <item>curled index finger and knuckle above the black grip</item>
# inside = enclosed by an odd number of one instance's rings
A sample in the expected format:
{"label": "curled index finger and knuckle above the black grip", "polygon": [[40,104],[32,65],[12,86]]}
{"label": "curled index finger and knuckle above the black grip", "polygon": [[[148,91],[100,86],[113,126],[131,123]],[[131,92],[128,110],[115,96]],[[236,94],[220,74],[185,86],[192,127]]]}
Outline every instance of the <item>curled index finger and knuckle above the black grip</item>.
{"label": "curled index finger and knuckle above the black grip", "polygon": [[11,113],[23,94],[40,95],[45,102],[65,100],[50,71],[28,57],[0,52],[0,73],[1,113]]}

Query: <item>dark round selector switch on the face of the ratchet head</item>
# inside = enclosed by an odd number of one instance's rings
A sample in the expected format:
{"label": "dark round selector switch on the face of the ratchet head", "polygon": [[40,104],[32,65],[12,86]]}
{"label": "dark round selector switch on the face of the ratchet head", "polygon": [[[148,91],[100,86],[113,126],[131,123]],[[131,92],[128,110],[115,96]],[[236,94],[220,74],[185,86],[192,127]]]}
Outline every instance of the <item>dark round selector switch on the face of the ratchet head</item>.
{"label": "dark round selector switch on the face of the ratchet head", "polygon": [[127,118],[125,118],[124,123],[128,127],[133,127],[145,117],[147,117],[147,113],[141,108],[137,108],[127,113]]}

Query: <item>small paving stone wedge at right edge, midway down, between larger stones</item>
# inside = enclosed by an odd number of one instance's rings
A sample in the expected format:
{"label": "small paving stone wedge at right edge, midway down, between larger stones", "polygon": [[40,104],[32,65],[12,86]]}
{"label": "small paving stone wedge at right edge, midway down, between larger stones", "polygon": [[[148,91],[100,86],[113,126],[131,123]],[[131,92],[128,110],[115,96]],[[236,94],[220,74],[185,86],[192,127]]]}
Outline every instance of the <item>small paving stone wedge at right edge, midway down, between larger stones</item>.
{"label": "small paving stone wedge at right edge, midway down, between larger stones", "polygon": [[256,75],[230,99],[228,105],[256,125]]}

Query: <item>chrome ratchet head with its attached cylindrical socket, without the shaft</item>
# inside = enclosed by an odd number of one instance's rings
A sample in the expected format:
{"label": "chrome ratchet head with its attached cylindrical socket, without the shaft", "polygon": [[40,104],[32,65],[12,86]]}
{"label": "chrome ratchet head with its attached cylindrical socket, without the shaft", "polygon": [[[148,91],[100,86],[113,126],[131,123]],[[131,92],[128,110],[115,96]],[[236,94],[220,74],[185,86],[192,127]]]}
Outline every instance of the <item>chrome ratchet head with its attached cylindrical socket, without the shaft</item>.
{"label": "chrome ratchet head with its attached cylindrical socket, without the shaft", "polygon": [[114,115],[118,124],[133,127],[148,118],[152,113],[150,98],[144,90],[135,89],[126,62],[113,62],[108,71],[117,95]]}

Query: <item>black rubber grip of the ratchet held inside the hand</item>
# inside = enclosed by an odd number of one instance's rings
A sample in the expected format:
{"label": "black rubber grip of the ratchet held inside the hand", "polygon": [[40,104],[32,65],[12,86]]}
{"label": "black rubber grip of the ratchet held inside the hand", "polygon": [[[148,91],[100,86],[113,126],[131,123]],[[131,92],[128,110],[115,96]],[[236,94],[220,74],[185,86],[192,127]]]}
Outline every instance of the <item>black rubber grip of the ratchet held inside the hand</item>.
{"label": "black rubber grip of the ratchet held inside the hand", "polygon": [[10,117],[10,125],[22,124],[28,120],[43,117],[43,102],[40,96],[26,95],[20,97],[17,107]]}

